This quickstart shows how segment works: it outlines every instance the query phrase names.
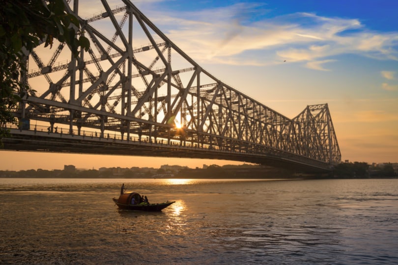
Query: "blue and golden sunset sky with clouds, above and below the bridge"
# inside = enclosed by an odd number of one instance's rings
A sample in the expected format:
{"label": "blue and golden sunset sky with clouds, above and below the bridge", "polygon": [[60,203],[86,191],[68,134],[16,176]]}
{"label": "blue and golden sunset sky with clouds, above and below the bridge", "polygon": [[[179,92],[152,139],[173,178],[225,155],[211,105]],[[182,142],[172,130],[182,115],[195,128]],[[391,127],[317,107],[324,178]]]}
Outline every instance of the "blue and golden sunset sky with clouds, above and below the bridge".
{"label": "blue and golden sunset sky with clouds, above and below the bridge", "polygon": [[[398,20],[391,11],[398,3],[133,2],[204,69],[285,116],[328,103],[342,160],[398,162]],[[98,13],[85,4],[82,17]],[[0,170],[236,163],[8,151],[0,158]]]}

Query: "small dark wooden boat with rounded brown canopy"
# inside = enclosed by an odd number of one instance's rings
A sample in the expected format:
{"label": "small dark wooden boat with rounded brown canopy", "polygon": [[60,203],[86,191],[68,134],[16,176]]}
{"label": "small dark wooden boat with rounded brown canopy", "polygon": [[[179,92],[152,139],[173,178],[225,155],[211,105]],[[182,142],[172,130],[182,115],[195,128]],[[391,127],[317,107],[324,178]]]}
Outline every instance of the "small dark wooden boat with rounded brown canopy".
{"label": "small dark wooden boat with rounded brown canopy", "polygon": [[[131,204],[134,198],[135,204]],[[123,210],[134,210],[134,211],[148,211],[148,212],[160,212],[166,207],[170,206],[174,202],[164,203],[145,203],[141,202],[141,195],[137,192],[124,193],[119,196],[118,199],[113,198],[114,203]]]}

